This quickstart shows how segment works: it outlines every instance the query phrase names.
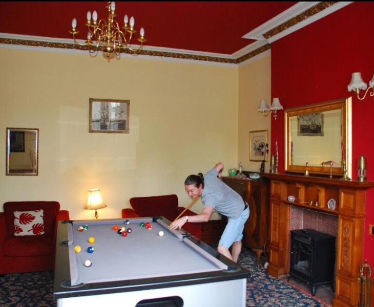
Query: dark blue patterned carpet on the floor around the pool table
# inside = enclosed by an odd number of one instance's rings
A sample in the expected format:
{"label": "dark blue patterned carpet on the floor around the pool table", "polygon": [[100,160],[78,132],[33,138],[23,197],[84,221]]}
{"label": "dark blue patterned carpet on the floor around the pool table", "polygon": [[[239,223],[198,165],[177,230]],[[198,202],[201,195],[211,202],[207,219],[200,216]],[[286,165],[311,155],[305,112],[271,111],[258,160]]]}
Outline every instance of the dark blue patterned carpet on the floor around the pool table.
{"label": "dark blue patterned carpet on the floor around the pool table", "polygon": [[[292,288],[283,280],[266,274],[263,268],[257,267],[256,254],[245,247],[240,255],[239,264],[252,272],[252,276],[247,282],[247,307],[326,306],[317,299]],[[0,306],[55,307],[56,301],[53,298],[53,271],[0,276]]]}

